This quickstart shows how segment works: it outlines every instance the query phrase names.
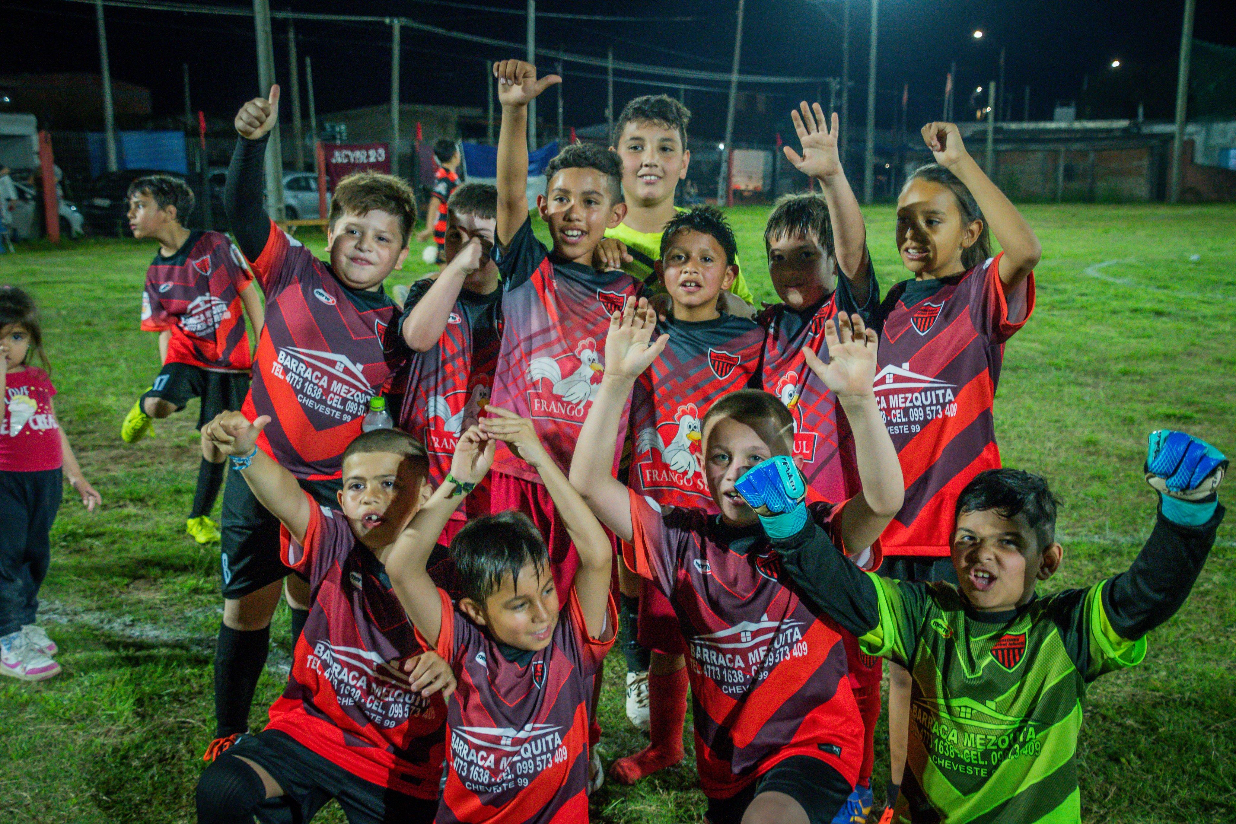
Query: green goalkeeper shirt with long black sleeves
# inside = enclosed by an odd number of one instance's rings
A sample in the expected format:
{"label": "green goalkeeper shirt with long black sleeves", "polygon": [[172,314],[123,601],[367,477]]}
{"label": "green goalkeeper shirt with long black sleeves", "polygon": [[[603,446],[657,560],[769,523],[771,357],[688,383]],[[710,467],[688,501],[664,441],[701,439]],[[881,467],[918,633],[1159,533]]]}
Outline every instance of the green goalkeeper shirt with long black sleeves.
{"label": "green goalkeeper shirt with long black sleeves", "polygon": [[979,613],[948,583],[863,572],[813,524],[774,541],[808,599],[864,652],[913,678],[899,824],[1057,824],[1082,819],[1077,739],[1086,686],[1138,663],[1145,634],[1188,595],[1214,544],[1162,516],[1128,572],[1085,589]]}

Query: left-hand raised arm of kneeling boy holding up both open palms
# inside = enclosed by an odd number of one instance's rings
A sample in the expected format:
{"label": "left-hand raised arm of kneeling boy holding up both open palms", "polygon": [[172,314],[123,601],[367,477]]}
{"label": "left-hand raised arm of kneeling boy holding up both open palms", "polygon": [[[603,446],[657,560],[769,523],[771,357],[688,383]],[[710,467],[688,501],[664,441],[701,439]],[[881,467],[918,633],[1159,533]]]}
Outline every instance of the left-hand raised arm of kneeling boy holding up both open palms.
{"label": "left-hand raised arm of kneeling boy holding up both open palms", "polygon": [[611,316],[601,389],[580,429],[581,448],[571,457],[571,486],[601,523],[624,541],[633,535],[630,499],[627,487],[614,478],[613,455],[624,423],[622,411],[635,378],[660,357],[670,340],[669,335],[661,335],[650,342],[655,331],[656,313],[644,298],[639,303],[627,298],[622,314]]}

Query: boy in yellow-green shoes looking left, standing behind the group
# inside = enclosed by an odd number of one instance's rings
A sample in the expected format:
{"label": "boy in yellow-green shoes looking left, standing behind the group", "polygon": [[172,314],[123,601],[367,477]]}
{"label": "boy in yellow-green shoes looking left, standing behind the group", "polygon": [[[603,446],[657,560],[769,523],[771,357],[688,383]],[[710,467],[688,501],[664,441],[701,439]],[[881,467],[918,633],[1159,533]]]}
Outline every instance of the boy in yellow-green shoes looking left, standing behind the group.
{"label": "boy in yellow-green shoes looking left, standing behind the group", "polygon": [[[226,235],[189,231],[193,190],[180,178],[153,174],[129,187],[129,227],[151,237],[159,251],[146,272],[142,331],[159,334],[163,369],[125,416],[120,437],[135,444],[156,418],[180,411],[200,398],[198,429],[225,409],[236,409],[248,392],[248,335],[262,332],[262,301],[240,252]],[[243,310],[243,314],[241,314]],[[185,531],[198,544],[219,540],[210,519],[224,482],[224,458],[203,445],[198,487]]]}

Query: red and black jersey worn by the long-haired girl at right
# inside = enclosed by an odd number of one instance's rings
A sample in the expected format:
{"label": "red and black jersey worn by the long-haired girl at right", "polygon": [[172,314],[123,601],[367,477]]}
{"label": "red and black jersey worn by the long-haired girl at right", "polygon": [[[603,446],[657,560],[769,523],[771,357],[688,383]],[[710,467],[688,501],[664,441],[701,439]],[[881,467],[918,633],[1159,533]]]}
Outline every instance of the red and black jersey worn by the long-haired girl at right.
{"label": "red and black jersey worn by the long-haired girl at right", "polygon": [[1005,341],[1035,310],[1035,275],[1005,295],[999,264],[904,280],[884,299],[875,399],[906,481],[886,555],[948,556],[957,495],[1000,466],[991,406]]}

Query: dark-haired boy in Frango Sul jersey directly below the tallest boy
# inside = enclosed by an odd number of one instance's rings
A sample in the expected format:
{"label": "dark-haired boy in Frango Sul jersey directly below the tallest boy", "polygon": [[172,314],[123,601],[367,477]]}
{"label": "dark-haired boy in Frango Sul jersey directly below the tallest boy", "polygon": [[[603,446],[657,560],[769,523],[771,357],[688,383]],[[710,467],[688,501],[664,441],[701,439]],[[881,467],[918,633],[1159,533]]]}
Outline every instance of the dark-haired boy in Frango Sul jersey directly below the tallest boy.
{"label": "dark-haired boy in Frango Sul jersey directly below the tallest boy", "polygon": [[[672,309],[658,331],[667,335],[669,342],[635,382],[630,409],[635,448],[629,476],[633,490],[661,505],[714,511],[703,474],[701,418],[718,398],[759,382],[764,330],[751,320],[718,311],[718,300],[737,273],[735,253],[726,216],[711,206],[677,214],[661,236],[655,271]],[[665,595],[625,572],[622,598],[628,633],[627,689],[630,694],[639,689],[640,678],[646,678],[651,738],[648,749],[619,759],[611,768],[616,781],[629,784],[682,760],[687,673],[686,646]],[[632,623],[638,646],[630,642]],[[651,651],[643,654],[646,662],[641,650]]]}

